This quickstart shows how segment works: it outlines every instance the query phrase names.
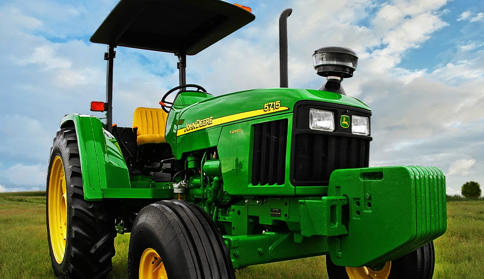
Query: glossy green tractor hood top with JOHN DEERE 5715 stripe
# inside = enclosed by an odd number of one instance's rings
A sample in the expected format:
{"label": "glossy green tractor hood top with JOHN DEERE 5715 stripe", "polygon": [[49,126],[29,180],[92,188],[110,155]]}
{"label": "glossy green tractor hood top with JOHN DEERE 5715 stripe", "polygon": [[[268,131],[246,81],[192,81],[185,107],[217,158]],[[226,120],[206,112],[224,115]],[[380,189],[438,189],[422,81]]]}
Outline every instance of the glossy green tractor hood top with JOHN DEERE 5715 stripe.
{"label": "glossy green tractor hood top with JOHN DEERE 5715 stripe", "polygon": [[[300,100],[348,105],[367,113],[370,111],[366,104],[356,98],[310,89],[255,89],[213,98],[202,93],[186,92],[179,94],[173,104],[168,117],[166,139],[173,150],[176,150],[176,157],[179,158],[184,148],[180,148],[182,146],[178,143],[216,146],[223,126],[254,118],[292,113],[295,103]],[[185,137],[194,134],[198,139],[196,143],[184,140]],[[207,142],[203,143],[204,141]]]}

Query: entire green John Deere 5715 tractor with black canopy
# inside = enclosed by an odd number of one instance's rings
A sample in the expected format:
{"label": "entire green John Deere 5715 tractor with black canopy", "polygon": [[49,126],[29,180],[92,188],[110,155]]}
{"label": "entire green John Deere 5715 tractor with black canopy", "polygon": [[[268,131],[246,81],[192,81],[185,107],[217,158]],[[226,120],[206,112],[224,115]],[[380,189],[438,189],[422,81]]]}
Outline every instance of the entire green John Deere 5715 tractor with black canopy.
{"label": "entire green John Deere 5715 tractor with black canopy", "polygon": [[[326,255],[330,279],[430,279],[447,226],[445,177],[368,167],[370,108],[341,81],[358,57],[314,53],[319,90],[287,86],[214,97],[187,84],[186,58],[254,20],[222,0],[121,0],[91,37],[108,45],[105,123],[66,115],[47,177],[47,234],[59,277],[106,278],[130,233],[129,278],[235,278],[234,269]],[[161,108],[112,124],[115,47],[173,53],[180,85]]]}

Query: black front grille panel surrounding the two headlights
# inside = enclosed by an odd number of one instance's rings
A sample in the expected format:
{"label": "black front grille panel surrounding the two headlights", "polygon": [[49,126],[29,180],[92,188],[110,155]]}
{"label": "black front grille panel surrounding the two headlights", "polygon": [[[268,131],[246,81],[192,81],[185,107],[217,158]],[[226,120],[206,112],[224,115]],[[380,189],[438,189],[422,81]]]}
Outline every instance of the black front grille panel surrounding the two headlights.
{"label": "black front grille panel surrounding the two headlights", "polygon": [[[333,112],[334,131],[318,131],[309,127],[311,108]],[[337,169],[368,167],[369,136],[354,135],[342,127],[341,116],[370,118],[371,112],[348,105],[318,101],[299,101],[295,105],[291,143],[291,182],[295,186],[327,186],[331,173]]]}

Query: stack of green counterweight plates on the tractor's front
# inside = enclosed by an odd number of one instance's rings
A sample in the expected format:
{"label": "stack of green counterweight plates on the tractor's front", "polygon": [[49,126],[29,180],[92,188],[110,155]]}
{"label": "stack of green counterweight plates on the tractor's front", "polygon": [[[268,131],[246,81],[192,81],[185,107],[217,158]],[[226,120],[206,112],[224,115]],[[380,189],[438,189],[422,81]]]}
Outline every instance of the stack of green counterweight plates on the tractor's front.
{"label": "stack of green counterweight plates on the tractor's front", "polygon": [[368,266],[398,259],[447,228],[445,176],[438,168],[336,170],[328,196],[348,197],[349,212],[342,216],[348,234],[328,238],[337,265]]}

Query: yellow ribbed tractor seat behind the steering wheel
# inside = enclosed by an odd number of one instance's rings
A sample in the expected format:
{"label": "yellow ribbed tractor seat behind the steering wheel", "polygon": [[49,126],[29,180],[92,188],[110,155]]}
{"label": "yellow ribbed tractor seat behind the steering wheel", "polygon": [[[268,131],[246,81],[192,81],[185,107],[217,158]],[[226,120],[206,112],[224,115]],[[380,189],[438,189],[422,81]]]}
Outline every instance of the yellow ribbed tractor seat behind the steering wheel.
{"label": "yellow ribbed tractor seat behind the steering wheel", "polygon": [[146,143],[163,143],[168,113],[161,108],[136,108],[133,114],[133,128],[138,127],[138,145]]}

